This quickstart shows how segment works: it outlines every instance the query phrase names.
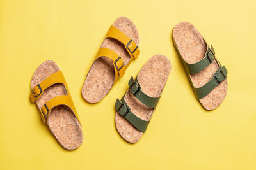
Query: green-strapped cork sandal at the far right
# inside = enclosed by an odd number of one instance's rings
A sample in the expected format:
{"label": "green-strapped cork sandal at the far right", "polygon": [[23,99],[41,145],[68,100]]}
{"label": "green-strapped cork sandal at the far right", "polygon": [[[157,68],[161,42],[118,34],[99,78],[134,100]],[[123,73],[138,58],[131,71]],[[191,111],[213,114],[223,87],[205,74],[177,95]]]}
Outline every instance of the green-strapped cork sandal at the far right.
{"label": "green-strapped cork sandal at the far right", "polygon": [[189,22],[177,24],[173,44],[196,97],[206,110],[217,108],[227,94],[227,69],[215,57],[214,48]]}

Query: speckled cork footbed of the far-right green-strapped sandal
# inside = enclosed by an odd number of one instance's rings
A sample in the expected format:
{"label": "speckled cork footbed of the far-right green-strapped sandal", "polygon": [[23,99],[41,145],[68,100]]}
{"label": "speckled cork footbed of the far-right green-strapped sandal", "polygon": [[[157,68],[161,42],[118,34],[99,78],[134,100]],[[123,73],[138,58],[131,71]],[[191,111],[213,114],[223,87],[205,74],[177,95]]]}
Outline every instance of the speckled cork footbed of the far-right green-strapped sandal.
{"label": "speckled cork footbed of the far-right green-strapped sandal", "polygon": [[[189,22],[180,22],[173,28],[173,40],[180,54],[189,64],[198,62],[205,57],[207,45],[204,38],[197,29]],[[202,87],[211,80],[218,69],[218,63],[214,60],[208,67],[196,74],[191,74],[194,87]],[[199,99],[206,110],[214,110],[225,99],[228,89],[227,79],[215,87],[207,96]]]}

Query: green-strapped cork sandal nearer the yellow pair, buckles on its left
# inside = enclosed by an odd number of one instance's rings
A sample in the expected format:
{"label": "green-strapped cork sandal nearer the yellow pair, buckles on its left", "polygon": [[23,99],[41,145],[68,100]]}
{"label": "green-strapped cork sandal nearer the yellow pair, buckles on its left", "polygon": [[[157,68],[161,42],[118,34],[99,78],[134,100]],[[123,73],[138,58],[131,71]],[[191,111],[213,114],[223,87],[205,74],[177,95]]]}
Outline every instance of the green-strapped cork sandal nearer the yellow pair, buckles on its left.
{"label": "green-strapped cork sandal nearer the yellow pair, buckles on its left", "polygon": [[170,60],[154,55],[135,78],[129,90],[116,99],[116,129],[126,141],[136,143],[146,131],[171,70]]}

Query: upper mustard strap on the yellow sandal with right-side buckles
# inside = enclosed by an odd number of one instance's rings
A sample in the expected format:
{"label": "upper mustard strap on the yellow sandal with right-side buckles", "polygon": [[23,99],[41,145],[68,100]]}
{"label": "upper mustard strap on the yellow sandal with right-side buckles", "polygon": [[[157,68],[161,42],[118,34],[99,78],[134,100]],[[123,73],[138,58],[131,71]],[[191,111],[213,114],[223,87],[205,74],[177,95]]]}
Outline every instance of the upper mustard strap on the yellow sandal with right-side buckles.
{"label": "upper mustard strap on the yellow sandal with right-side buckles", "polygon": [[129,55],[131,56],[131,60],[136,59],[140,53],[138,45],[132,41],[131,38],[129,38],[124,32],[120,31],[113,25],[108,30],[108,33],[106,35],[106,38],[114,38],[120,41],[122,43]]}

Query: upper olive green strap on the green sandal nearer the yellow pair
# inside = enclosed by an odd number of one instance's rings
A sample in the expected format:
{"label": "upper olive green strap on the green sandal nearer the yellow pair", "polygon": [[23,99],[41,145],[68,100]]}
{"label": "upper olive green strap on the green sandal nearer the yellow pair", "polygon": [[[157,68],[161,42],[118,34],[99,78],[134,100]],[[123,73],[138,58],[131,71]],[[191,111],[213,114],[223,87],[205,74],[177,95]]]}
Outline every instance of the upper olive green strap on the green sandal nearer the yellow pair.
{"label": "upper olive green strap on the green sandal nearer the yellow pair", "polygon": [[156,105],[160,99],[161,96],[159,97],[150,97],[145,94],[140,87],[140,83],[138,82],[137,78],[134,81],[134,78],[131,77],[129,80],[129,90],[135,96],[141,103],[145,104],[149,108],[156,108]]}

